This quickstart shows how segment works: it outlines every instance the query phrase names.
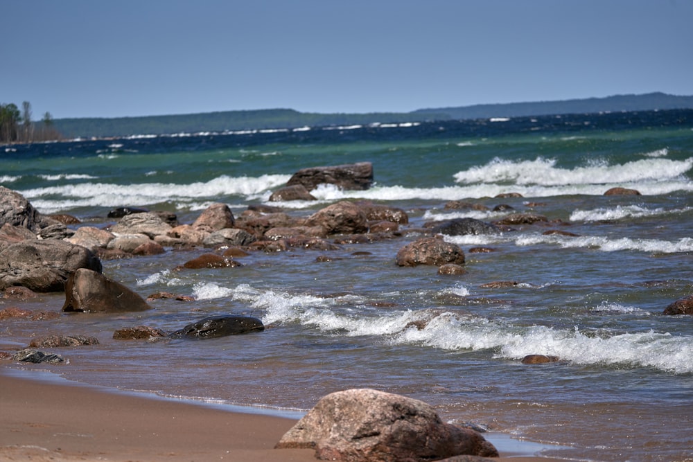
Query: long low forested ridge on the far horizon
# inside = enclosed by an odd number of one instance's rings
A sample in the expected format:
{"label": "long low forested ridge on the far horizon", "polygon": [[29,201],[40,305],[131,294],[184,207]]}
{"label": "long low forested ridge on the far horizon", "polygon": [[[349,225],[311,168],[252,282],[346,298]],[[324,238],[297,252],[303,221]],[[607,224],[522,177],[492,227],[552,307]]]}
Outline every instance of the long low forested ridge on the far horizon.
{"label": "long low forested ridge on the far horizon", "polygon": [[369,125],[448,121],[494,117],[591,114],[599,112],[693,109],[693,96],[660,92],[616,95],[534,103],[499,103],[417,109],[412,112],[372,112],[366,114],[319,114],[294,109],[253,109],[166,116],[117,118],[56,118],[53,126],[68,138],[107,138],[146,134],[236,132],[241,130],[293,129],[331,125]]}

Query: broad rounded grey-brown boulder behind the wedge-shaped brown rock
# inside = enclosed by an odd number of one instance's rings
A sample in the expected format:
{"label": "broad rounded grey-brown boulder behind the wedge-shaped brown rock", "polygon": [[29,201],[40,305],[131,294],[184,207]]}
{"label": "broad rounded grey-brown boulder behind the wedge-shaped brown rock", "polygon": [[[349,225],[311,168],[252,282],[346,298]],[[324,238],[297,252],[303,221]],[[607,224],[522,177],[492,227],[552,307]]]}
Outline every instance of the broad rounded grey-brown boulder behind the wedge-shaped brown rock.
{"label": "broad rounded grey-brown boulder behind the wedge-shaped brown rock", "polygon": [[62,292],[79,268],[101,272],[101,261],[70,242],[25,240],[0,251],[0,290],[21,285],[34,292]]}

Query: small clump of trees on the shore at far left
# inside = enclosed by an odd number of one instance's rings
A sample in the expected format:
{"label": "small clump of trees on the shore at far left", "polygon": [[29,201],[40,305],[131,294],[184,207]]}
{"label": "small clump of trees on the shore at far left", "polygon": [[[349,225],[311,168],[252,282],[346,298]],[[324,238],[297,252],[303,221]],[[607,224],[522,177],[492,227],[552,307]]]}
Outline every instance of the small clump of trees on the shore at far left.
{"label": "small clump of trees on the shore at far left", "polygon": [[31,103],[21,103],[21,111],[15,103],[0,103],[0,143],[34,143],[54,141],[62,135],[53,126],[50,112],[39,123],[31,120]]}

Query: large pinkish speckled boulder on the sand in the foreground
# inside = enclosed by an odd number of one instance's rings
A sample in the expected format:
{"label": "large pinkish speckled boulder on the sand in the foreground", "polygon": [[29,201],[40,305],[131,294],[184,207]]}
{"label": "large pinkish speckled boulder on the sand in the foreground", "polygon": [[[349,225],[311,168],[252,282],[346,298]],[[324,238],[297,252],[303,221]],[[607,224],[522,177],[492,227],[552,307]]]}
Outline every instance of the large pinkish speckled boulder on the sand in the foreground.
{"label": "large pinkish speckled boulder on the sand in the foreground", "polygon": [[317,459],[347,462],[498,456],[480,433],[444,423],[426,402],[372,389],[325,396],[276,447],[315,448]]}

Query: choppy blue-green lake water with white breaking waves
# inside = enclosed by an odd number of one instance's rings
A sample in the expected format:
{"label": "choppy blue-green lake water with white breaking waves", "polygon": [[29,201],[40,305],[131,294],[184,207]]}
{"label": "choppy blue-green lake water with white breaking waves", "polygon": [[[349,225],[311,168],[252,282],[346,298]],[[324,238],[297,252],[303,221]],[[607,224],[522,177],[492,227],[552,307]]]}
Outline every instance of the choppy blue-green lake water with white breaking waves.
{"label": "choppy blue-green lake water with white breaking waves", "polygon": [[[167,291],[195,301],[11,321],[0,350],[47,332],[101,342],[58,352],[67,365],[15,367],[285,410],[374,387],[430,402],[446,420],[561,445],[546,455],[693,457],[693,319],[661,315],[693,293],[693,111],[145,135],[0,148],[0,184],[43,213],[69,213],[87,226],[111,223],[107,212],[118,206],[175,211],[192,222],[213,202],[236,217],[262,203],[306,216],[343,199],[403,208],[410,223],[399,238],[334,251],[254,251],[228,269],[173,271],[209,249],[105,260],[107,276],[143,296]],[[369,190],[323,185],[312,192],[316,202],[267,202],[299,168],[358,161],[374,165]],[[642,195],[604,196],[615,186]],[[495,197],[502,193],[523,197]],[[445,208],[453,200],[489,209]],[[493,211],[499,204],[513,209]],[[513,212],[550,222],[446,236],[466,252],[464,275],[394,263],[426,222],[492,222]],[[545,235],[550,229],[577,236]],[[324,255],[332,261],[317,262]],[[517,284],[485,286],[493,281]],[[62,301],[51,294],[30,304],[58,311]],[[268,328],[201,342],[112,339],[116,328],[175,330],[220,313],[252,314]],[[428,323],[418,330],[412,321]],[[521,364],[529,354],[560,361]]]}

